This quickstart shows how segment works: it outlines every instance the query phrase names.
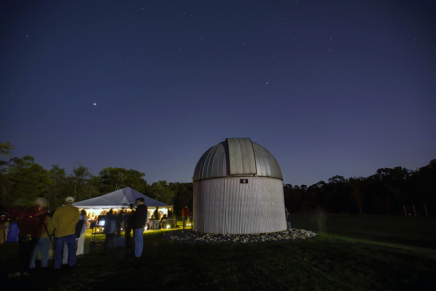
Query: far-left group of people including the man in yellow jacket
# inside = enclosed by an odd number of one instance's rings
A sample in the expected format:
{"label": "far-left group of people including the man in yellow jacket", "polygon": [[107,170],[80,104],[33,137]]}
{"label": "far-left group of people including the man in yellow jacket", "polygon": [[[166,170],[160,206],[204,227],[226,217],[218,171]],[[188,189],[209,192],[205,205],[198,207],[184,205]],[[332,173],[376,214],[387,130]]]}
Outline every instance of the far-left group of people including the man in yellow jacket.
{"label": "far-left group of people including the man in yellow jacket", "polygon": [[73,267],[76,256],[83,256],[85,230],[88,227],[85,210],[74,207],[73,197],[65,199],[65,205],[49,214],[45,198],[37,198],[33,206],[23,211],[17,220],[18,232],[18,272],[9,277],[29,275],[36,267],[38,252],[41,254],[41,267],[48,267],[50,243],[54,248],[54,269],[62,264]]}

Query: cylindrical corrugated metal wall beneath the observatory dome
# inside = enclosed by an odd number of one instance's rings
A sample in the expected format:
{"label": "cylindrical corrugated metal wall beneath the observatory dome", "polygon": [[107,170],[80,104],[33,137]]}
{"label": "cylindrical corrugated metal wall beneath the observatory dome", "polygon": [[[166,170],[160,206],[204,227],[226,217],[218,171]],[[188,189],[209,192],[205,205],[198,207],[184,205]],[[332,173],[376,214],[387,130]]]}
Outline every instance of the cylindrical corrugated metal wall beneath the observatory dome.
{"label": "cylindrical corrugated metal wall beneath the observatory dome", "polygon": [[[240,183],[240,179],[248,183]],[[194,183],[193,229],[203,233],[248,234],[287,228],[282,180],[226,177]]]}

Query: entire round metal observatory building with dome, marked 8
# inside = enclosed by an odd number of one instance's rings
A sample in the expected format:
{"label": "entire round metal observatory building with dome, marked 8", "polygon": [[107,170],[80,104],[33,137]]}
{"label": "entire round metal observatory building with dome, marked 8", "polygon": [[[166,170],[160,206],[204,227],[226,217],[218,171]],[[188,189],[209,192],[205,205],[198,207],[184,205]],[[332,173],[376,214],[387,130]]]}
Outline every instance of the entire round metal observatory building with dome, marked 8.
{"label": "entire round metal observatory building with dome, marked 8", "polygon": [[285,230],[279,163],[249,138],[209,148],[194,170],[193,230],[248,234]]}

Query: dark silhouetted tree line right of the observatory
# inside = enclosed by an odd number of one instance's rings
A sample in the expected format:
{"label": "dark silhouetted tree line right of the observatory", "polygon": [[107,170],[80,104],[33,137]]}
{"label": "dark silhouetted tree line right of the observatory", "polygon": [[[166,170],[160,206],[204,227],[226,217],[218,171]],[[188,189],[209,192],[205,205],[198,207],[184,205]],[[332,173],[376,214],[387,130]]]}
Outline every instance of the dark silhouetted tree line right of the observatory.
{"label": "dark silhouetted tree line right of the observatory", "polygon": [[[334,176],[311,186],[283,185],[292,213],[427,215],[436,211],[436,159],[424,167],[380,168],[369,177]],[[430,209],[430,210],[429,210]],[[427,213],[426,213],[427,211]]]}

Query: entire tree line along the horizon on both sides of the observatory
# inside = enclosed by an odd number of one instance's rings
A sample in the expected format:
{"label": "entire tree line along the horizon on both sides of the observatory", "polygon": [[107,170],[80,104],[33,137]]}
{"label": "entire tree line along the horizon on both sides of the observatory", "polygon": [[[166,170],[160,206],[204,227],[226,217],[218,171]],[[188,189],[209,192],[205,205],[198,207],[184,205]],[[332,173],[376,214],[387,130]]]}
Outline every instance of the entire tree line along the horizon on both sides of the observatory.
{"label": "entire tree line along the horizon on both sides of the observatory", "polygon": [[[14,147],[0,143],[0,157]],[[175,213],[188,205],[192,209],[193,183],[157,181],[148,184],[145,174],[125,168],[108,167],[98,176],[84,165],[67,174],[59,165],[44,169],[31,156],[0,161],[0,205],[30,206],[37,197],[45,197],[48,207],[61,206],[66,196],[76,201],[131,187],[151,198],[174,206]],[[291,213],[324,210],[329,213],[404,214],[436,209],[436,159],[424,167],[380,168],[369,177],[334,176],[328,182],[311,186],[283,184],[285,206]],[[415,207],[415,209],[413,209]]]}

